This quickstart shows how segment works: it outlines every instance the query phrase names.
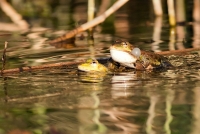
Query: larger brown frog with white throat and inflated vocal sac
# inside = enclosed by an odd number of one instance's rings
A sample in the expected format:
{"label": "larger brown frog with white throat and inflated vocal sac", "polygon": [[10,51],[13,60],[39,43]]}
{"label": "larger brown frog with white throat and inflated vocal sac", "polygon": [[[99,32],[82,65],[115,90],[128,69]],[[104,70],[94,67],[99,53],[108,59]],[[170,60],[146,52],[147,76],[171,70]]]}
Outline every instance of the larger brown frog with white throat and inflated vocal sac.
{"label": "larger brown frog with white throat and inflated vocal sac", "polygon": [[110,55],[115,62],[136,70],[171,68],[173,65],[163,55],[140,50],[126,41],[115,41],[110,46]]}

